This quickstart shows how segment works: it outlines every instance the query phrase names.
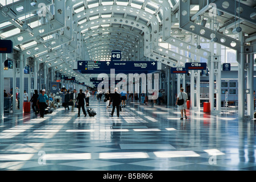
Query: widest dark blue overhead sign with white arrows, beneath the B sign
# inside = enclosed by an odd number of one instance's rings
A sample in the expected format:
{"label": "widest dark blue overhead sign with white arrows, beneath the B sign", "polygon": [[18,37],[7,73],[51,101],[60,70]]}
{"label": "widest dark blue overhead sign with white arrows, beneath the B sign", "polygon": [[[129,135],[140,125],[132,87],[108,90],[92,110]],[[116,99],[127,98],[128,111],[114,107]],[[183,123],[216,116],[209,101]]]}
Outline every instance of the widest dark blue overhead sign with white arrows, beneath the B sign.
{"label": "widest dark blue overhead sign with white arrows, beneath the B sign", "polygon": [[81,73],[106,73],[110,69],[121,72],[157,71],[156,61],[77,61]]}

